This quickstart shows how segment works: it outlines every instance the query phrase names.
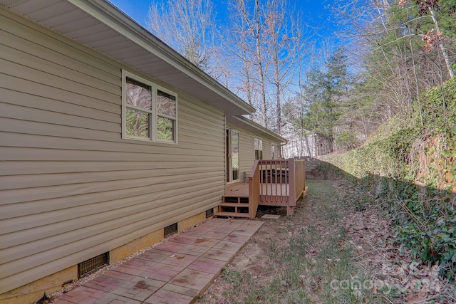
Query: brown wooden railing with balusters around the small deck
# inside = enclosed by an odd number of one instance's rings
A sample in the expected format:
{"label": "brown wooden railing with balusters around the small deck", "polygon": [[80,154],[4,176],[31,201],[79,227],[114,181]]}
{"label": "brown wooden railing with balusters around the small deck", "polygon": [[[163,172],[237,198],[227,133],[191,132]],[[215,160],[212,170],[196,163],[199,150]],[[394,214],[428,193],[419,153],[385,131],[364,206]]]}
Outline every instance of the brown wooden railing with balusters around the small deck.
{"label": "brown wooden railing with balusters around the small deck", "polygon": [[249,210],[254,216],[259,204],[287,206],[287,215],[292,215],[293,207],[305,189],[304,160],[257,160],[249,175],[249,200],[252,201]]}

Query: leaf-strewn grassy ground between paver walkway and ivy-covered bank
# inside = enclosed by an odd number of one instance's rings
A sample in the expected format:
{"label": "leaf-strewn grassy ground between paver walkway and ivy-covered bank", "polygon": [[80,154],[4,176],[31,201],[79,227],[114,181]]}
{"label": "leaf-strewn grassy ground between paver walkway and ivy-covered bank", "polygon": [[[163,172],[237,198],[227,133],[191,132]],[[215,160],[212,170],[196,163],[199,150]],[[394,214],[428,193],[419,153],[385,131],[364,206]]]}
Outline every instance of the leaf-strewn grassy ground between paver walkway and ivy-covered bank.
{"label": "leaf-strewn grassy ground between paver walkway and ivy-covered bank", "polygon": [[413,261],[390,214],[344,177],[308,180],[294,216],[264,221],[197,303],[456,303],[437,268]]}

